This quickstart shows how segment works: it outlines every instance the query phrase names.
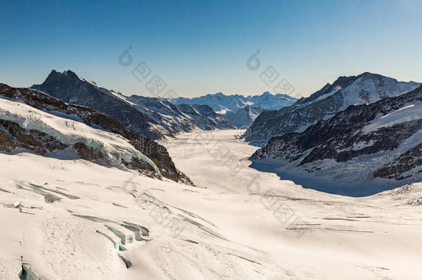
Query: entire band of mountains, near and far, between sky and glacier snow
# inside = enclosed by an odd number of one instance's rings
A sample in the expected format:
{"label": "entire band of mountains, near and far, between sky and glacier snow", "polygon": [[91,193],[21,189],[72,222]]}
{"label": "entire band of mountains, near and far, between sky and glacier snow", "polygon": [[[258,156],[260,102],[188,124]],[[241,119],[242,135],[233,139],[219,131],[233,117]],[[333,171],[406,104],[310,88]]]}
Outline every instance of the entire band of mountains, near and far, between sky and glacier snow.
{"label": "entire band of mountains, near and far, between sky and glacier snow", "polygon": [[163,100],[51,71],[31,88],[0,84],[0,106],[0,151],[70,155],[187,185],[154,139],[248,126],[243,137],[265,144],[252,167],[304,187],[363,196],[422,180],[422,86],[372,73],[339,77],[300,100],[270,93]]}

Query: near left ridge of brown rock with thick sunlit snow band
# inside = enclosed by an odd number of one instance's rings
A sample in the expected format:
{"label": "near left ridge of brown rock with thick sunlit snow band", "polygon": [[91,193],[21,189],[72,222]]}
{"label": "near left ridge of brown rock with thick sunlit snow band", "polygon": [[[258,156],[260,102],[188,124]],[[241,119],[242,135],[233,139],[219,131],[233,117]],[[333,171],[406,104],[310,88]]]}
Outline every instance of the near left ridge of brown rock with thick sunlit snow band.
{"label": "near left ridge of brown rock with thick sunlit snow band", "polygon": [[82,158],[192,185],[176,169],[165,147],[154,140],[128,131],[120,122],[93,109],[6,84],[0,84],[0,151]]}

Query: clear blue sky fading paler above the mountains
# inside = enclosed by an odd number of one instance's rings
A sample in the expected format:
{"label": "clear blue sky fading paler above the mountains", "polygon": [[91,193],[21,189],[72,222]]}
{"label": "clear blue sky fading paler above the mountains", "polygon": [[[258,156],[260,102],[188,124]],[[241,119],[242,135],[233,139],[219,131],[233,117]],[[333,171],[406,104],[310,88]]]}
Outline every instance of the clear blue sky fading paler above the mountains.
{"label": "clear blue sky fading paler above the mountains", "polygon": [[271,91],[259,78],[267,66],[303,96],[366,71],[422,82],[422,1],[3,0],[0,57],[11,86],[71,69],[126,95],[148,95],[131,74],[139,62],[185,97]]}

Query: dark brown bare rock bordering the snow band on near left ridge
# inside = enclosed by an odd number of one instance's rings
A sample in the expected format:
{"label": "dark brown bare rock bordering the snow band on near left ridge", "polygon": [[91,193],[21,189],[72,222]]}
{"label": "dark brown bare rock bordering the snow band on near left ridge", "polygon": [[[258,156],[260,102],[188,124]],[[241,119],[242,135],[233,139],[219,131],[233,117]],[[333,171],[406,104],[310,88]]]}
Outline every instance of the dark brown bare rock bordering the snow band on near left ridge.
{"label": "dark brown bare rock bordering the snow band on near left ridge", "polygon": [[[174,166],[167,149],[152,139],[140,136],[129,131],[120,122],[113,120],[107,115],[99,113],[86,106],[66,104],[55,97],[51,97],[40,91],[28,88],[12,88],[6,84],[0,84],[0,97],[6,97],[12,101],[21,102],[33,106],[36,109],[49,113],[62,113],[68,118],[79,118],[85,124],[102,128],[107,131],[123,136],[145,156],[150,158],[165,177],[176,182],[193,185],[192,181]],[[0,149],[1,151],[12,151],[18,147],[45,154],[48,151],[66,149],[68,145],[62,144],[51,136],[41,131],[26,130],[15,122],[0,120]],[[102,164],[102,154],[86,147],[83,143],[73,146],[80,158]],[[146,171],[154,171],[145,162],[127,162],[127,166],[136,167]]]}

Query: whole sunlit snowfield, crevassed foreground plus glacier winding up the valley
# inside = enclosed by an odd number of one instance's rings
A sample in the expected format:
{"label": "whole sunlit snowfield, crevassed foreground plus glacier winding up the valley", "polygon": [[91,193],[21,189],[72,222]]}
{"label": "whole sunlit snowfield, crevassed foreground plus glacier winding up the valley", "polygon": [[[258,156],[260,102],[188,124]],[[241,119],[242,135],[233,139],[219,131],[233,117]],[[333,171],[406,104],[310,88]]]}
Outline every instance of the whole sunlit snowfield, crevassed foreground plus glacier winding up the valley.
{"label": "whole sunlit snowfield, crevassed foreground plus glacier winding up the valley", "polygon": [[0,153],[0,279],[420,279],[421,184],[303,189],[249,168],[243,132],[164,143],[199,187]]}

